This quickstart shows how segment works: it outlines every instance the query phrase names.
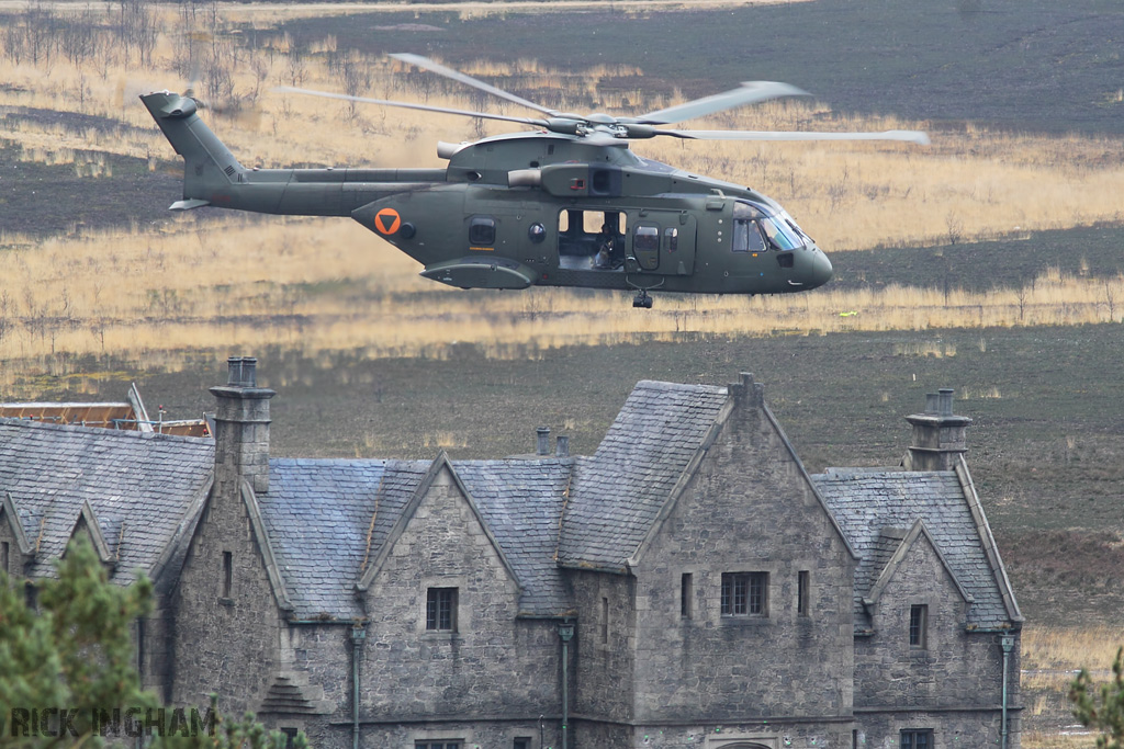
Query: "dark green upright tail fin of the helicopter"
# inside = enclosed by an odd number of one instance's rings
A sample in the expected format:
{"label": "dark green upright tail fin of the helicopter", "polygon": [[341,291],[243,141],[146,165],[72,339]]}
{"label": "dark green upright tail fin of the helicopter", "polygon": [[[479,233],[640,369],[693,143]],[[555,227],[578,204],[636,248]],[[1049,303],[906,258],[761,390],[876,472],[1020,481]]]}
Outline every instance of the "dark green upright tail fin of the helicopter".
{"label": "dark green upright tail fin of the helicopter", "polygon": [[[242,182],[245,168],[196,113],[193,99],[169,91],[140,97],[164,137],[183,156],[183,200],[172,210],[208,205],[217,195],[229,195],[230,186]],[[221,199],[219,199],[221,201]]]}

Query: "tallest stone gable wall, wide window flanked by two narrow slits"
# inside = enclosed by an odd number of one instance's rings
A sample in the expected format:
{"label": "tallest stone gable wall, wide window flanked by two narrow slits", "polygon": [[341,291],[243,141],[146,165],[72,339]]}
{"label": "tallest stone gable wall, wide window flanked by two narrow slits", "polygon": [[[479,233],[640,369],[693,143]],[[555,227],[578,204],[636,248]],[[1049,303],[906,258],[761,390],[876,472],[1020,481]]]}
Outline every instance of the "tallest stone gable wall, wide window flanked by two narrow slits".
{"label": "tallest stone gable wall, wide window flanked by two narrow slits", "polygon": [[[723,573],[754,572],[768,573],[768,613],[723,615]],[[850,718],[854,560],[758,403],[735,408],[634,573],[637,723]],[[840,741],[851,727],[808,730]]]}

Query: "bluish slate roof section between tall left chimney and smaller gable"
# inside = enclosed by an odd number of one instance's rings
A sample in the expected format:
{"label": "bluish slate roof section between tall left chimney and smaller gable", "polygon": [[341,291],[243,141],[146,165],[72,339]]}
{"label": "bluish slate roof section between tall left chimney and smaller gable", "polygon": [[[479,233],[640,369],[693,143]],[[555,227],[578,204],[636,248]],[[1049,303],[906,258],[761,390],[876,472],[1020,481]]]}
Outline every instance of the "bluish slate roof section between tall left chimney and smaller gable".
{"label": "bluish slate roof section between tall left chimney and smaller gable", "polygon": [[355,599],[355,582],[428,465],[419,460],[270,460],[270,491],[257,496],[257,504],[293,618],[364,615]]}

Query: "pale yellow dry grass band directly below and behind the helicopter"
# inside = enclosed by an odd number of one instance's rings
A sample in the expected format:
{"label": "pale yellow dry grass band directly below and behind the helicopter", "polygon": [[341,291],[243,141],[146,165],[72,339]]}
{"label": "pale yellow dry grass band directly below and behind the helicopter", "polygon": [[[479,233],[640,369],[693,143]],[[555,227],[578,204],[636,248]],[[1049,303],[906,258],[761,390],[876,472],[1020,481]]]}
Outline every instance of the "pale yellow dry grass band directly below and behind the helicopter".
{"label": "pale yellow dry grass band directly below and behind the helicopter", "polygon": [[[235,217],[216,223],[185,214],[160,232],[24,244],[9,252],[0,277],[4,358],[264,344],[307,354],[359,348],[371,356],[438,356],[453,340],[504,357],[682,332],[1082,325],[1120,321],[1124,313],[1120,303],[1107,303],[1109,296],[1124,300],[1124,277],[1094,281],[1055,271],[1026,289],[986,294],[894,286],[665,295],[652,311],[627,308],[623,292],[461,292],[422,280],[414,261],[345,220]],[[954,356],[955,349],[903,345],[899,354]]]}

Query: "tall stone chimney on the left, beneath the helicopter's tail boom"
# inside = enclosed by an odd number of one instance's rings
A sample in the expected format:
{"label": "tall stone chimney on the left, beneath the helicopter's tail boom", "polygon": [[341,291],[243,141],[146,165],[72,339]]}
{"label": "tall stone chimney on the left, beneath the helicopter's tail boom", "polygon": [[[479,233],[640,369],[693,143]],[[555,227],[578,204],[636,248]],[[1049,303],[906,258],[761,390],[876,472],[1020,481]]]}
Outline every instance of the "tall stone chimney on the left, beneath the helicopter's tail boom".
{"label": "tall stone chimney on the left, beneath the helicopter's tail boom", "polygon": [[257,386],[254,357],[232,356],[227,364],[227,383],[210,389],[218,401],[215,483],[245,478],[255,493],[265,494],[270,491],[270,399],[277,393]]}

